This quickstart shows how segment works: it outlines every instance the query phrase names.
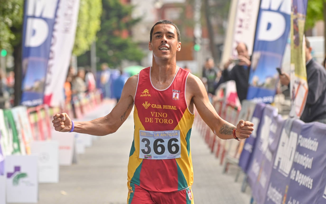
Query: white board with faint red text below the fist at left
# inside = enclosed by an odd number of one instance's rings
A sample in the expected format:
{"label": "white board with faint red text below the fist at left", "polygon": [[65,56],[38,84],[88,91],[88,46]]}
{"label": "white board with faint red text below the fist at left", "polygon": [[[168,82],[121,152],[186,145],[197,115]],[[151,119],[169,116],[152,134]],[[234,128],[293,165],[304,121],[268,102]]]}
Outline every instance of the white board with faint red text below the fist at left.
{"label": "white board with faint red text below the fist at left", "polygon": [[53,130],[52,140],[59,142],[59,165],[71,165],[75,149],[75,134],[71,132],[58,132]]}

